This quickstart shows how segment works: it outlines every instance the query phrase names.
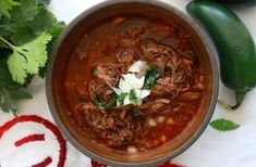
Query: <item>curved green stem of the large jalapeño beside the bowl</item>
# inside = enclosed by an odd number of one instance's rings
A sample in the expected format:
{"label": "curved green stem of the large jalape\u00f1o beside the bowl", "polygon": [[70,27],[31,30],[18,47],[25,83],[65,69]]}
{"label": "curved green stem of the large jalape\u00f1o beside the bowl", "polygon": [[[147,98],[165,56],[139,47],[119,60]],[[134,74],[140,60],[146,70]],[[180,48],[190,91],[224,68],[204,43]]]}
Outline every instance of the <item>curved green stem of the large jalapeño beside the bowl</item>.
{"label": "curved green stem of the large jalape\u00f1o beside the bowl", "polygon": [[234,111],[240,107],[246,93],[247,91],[235,91],[235,105],[229,105],[220,100],[218,100],[218,103],[227,110]]}

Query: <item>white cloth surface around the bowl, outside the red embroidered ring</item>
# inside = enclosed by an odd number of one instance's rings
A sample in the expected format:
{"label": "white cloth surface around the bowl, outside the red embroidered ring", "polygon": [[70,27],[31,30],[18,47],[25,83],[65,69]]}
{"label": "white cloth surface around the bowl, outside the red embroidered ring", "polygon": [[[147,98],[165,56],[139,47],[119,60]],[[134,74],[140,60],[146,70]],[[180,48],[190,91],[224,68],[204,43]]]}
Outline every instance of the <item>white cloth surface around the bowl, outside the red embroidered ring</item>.
{"label": "white cloth surface around the bowl, outside the red embroidered ring", "polygon": [[[190,0],[166,0],[184,11]],[[51,10],[59,20],[71,22],[81,12],[101,0],[52,0]],[[245,23],[256,41],[256,5],[230,7]],[[256,72],[255,72],[256,75]],[[19,102],[22,114],[37,114],[52,120],[46,94],[45,81],[35,79],[29,88],[34,99]],[[233,92],[220,84],[219,99],[233,102]],[[241,127],[230,132],[219,132],[206,128],[202,137],[183,154],[173,159],[174,163],[187,167],[254,167],[256,166],[256,90],[251,91],[236,112],[228,112],[217,105],[212,119],[231,119]],[[0,125],[12,118],[11,114],[0,113]],[[89,158],[68,144],[66,167],[85,167]]]}

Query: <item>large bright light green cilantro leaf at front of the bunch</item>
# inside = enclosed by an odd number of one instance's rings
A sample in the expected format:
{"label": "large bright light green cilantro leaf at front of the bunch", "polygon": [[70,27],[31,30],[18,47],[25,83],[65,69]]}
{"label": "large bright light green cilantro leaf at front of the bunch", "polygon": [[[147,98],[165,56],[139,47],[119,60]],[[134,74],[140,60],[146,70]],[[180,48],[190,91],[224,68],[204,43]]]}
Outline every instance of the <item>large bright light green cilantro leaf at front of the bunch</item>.
{"label": "large bright light green cilantro leaf at front of the bunch", "polygon": [[51,39],[49,34],[41,34],[35,40],[23,46],[12,46],[0,37],[2,41],[13,49],[13,53],[8,60],[9,70],[14,81],[23,85],[27,74],[38,74],[39,67],[45,66],[47,62],[47,43]]}

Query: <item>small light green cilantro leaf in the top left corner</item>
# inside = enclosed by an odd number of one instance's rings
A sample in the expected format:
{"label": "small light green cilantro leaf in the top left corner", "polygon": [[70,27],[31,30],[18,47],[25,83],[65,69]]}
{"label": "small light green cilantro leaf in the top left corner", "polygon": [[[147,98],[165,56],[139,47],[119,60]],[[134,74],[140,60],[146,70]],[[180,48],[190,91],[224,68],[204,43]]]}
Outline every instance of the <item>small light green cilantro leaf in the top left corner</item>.
{"label": "small light green cilantro leaf in the top left corner", "polygon": [[7,17],[11,17],[9,11],[12,10],[13,7],[19,5],[19,2],[15,2],[13,0],[1,0],[0,1],[0,18],[2,15]]}

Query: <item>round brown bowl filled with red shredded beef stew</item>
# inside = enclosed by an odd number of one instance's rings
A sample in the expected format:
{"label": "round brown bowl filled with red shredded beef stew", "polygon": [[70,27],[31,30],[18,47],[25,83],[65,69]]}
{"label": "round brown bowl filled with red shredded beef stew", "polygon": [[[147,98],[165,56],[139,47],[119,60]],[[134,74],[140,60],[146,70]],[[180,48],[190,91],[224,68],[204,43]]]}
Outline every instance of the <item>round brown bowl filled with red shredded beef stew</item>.
{"label": "round brown bowl filled with red shredded beef stew", "polygon": [[48,63],[51,114],[78,151],[111,166],[154,166],[208,125],[218,72],[205,34],[160,1],[106,1],[76,17]]}

